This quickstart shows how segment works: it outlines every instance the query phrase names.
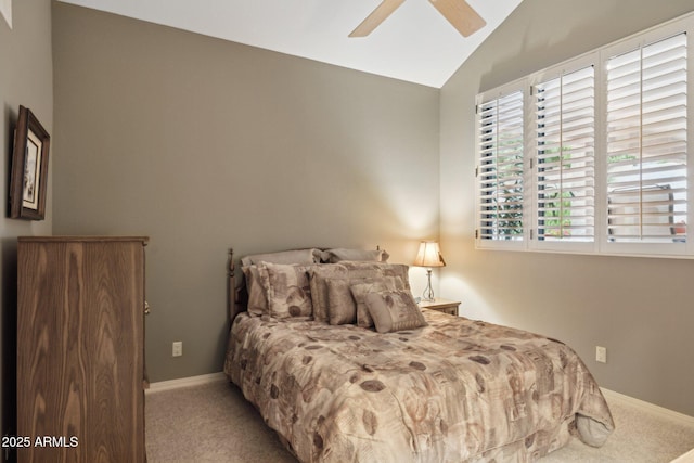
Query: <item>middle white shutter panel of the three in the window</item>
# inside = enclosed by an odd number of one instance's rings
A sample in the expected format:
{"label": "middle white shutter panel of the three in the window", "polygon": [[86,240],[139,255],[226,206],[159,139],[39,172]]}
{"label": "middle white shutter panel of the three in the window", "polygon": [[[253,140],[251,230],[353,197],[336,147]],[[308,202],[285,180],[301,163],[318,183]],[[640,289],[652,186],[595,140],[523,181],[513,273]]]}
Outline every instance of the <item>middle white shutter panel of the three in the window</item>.
{"label": "middle white shutter panel of the three in the window", "polygon": [[592,242],[595,235],[593,66],[534,86],[538,241]]}

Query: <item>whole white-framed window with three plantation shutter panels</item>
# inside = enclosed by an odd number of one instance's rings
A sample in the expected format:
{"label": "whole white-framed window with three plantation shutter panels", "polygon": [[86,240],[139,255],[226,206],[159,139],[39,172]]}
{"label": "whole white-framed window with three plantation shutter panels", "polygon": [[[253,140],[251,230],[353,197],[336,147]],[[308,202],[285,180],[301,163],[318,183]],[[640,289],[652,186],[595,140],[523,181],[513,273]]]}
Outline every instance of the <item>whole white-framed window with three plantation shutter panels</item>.
{"label": "whole white-framed window with three plantation shutter panels", "polygon": [[479,94],[477,247],[694,257],[692,33],[694,14]]}

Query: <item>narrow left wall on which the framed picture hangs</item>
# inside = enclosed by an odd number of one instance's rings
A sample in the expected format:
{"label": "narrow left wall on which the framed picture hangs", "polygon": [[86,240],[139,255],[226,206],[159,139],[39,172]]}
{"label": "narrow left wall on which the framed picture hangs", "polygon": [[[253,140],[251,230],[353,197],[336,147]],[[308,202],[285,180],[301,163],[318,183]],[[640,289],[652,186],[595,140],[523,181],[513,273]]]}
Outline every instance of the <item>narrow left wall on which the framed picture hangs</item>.
{"label": "narrow left wall on which the framed picture hangs", "polygon": [[[53,133],[53,69],[51,59],[51,2],[13,2],[13,28],[0,16],[0,411],[2,434],[13,434],[16,374],[16,237],[51,234],[52,178],[49,173],[46,220],[9,219],[8,192],[14,127],[20,105],[24,105]],[[51,146],[50,155],[57,153]],[[52,159],[51,159],[52,160]],[[52,163],[51,163],[52,164]]]}

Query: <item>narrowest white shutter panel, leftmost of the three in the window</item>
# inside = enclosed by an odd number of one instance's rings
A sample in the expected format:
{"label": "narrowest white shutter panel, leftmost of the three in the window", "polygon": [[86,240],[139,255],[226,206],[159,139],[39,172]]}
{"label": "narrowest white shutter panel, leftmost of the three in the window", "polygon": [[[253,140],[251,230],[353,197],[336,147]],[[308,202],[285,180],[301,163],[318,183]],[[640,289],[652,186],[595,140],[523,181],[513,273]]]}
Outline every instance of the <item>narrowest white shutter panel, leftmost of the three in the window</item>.
{"label": "narrowest white shutter panel, leftmost of the three in the window", "polygon": [[523,92],[477,106],[478,240],[523,241]]}

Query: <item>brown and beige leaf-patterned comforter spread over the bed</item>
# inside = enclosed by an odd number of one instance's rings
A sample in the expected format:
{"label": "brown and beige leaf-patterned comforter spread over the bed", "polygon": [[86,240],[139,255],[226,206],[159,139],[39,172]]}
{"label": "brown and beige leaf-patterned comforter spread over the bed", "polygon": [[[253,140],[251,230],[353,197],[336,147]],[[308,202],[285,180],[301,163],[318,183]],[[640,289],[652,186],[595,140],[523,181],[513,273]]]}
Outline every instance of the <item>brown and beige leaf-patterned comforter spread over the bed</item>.
{"label": "brown and beige leaf-patterned comforter spread over the bed", "polygon": [[529,462],[612,433],[563,343],[423,313],[388,334],[242,313],[224,372],[303,462]]}

